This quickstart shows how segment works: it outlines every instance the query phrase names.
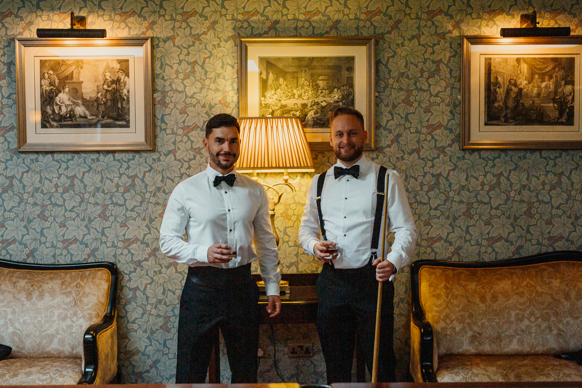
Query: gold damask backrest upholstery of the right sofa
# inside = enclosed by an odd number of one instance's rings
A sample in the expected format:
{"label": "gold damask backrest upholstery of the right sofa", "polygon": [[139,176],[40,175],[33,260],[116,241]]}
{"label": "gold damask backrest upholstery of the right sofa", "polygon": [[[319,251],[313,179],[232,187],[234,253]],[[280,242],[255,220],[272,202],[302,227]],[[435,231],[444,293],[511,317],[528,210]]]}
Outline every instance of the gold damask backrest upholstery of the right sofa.
{"label": "gold damask backrest upholstery of the right sofa", "polygon": [[582,348],[582,262],[425,266],[420,298],[442,355],[560,354]]}

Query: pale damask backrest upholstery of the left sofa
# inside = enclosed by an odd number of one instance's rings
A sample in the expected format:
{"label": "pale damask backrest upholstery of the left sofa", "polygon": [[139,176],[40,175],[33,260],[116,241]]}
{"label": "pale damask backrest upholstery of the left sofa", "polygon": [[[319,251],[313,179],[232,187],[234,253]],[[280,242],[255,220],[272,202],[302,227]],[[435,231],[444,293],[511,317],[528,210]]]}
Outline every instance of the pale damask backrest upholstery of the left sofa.
{"label": "pale damask backrest upholstery of the left sofa", "polygon": [[0,343],[10,357],[83,357],[83,334],[107,311],[107,269],[0,268]]}

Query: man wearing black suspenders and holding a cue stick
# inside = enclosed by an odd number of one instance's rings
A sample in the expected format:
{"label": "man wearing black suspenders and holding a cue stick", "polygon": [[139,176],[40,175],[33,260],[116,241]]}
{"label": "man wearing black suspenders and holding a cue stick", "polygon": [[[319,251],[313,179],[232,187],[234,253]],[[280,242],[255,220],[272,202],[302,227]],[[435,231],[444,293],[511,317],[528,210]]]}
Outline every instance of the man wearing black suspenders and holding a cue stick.
{"label": "man wearing black suspenders and holding a cue stick", "polygon": [[[368,133],[361,113],[341,106],[329,115],[329,122],[329,143],[338,163],[313,178],[301,217],[299,242],[307,254],[324,263],[316,284],[316,327],[331,384],[352,381],[356,333],[368,371],[372,371],[378,281],[392,280],[410,262],[417,232],[398,173],[363,155]],[[385,195],[388,205],[383,216]],[[380,262],[376,251],[384,227],[394,234],[394,242],[386,260]],[[335,241],[331,241],[331,234],[337,236]],[[387,247],[388,239],[384,243]],[[328,250],[334,246],[338,253],[331,255]],[[392,282],[384,283],[378,382],[395,381],[396,377],[393,298]]]}

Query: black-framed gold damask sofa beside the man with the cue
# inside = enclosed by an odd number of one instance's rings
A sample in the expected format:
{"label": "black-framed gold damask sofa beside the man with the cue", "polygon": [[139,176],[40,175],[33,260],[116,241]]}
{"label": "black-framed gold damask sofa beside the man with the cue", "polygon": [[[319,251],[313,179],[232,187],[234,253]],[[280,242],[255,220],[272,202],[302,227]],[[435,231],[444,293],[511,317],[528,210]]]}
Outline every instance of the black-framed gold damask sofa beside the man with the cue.
{"label": "black-framed gold damask sofa beside the man with the cue", "polygon": [[582,252],[420,260],[411,281],[415,382],[582,381]]}

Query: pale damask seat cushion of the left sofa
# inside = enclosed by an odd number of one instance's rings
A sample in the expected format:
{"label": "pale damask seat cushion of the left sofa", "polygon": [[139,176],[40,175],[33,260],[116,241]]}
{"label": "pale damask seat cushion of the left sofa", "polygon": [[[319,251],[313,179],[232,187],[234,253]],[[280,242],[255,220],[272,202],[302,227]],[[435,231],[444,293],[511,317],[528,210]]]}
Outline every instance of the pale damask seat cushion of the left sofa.
{"label": "pale damask seat cushion of the left sofa", "polygon": [[81,379],[81,358],[6,358],[0,385],[66,385]]}

